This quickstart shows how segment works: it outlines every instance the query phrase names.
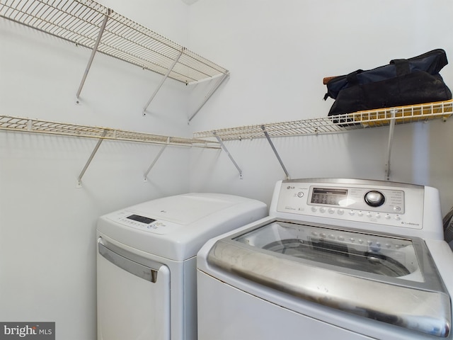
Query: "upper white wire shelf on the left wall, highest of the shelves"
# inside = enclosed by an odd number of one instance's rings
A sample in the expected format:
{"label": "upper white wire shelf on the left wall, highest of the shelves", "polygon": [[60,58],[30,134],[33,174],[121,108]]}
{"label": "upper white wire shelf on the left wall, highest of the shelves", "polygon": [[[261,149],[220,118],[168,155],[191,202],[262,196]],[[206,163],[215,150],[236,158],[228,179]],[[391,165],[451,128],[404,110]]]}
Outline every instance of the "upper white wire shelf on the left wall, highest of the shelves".
{"label": "upper white wire shelf on the left wall, highest of the shelves", "polygon": [[98,52],[158,74],[171,70],[168,77],[185,84],[228,74],[224,67],[96,1],[0,0],[0,16],[90,49],[108,19]]}

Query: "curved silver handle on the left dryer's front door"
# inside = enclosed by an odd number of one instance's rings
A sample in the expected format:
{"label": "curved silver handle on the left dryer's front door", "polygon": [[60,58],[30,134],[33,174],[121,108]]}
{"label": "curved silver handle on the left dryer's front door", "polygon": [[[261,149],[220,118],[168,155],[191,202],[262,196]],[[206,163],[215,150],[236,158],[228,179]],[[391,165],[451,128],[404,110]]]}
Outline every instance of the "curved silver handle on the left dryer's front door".
{"label": "curved silver handle on the left dryer's front door", "polygon": [[[98,251],[99,254],[101,254],[106,260],[115,264],[115,266],[118,266],[127,271],[128,273],[132,273],[135,276],[138,276],[139,278],[143,278],[144,280],[156,283],[159,268],[157,269],[151,268],[142,263],[138,263],[137,261],[129,259],[128,258],[129,256],[128,257],[125,256],[126,255],[125,253],[128,253],[128,251],[120,249],[117,246],[113,246],[113,244],[112,245],[109,244],[109,246],[106,246],[105,244],[103,244],[103,240],[101,237],[98,239]],[[144,260],[146,261],[147,259]],[[160,267],[159,266],[160,263],[156,264],[158,265],[158,267]]]}

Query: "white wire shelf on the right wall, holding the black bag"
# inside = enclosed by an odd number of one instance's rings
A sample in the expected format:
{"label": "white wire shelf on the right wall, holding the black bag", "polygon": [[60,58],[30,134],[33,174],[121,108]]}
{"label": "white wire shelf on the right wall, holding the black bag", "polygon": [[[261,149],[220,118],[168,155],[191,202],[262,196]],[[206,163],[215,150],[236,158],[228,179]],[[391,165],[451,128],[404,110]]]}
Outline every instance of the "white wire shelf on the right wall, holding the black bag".
{"label": "white wire shelf on the right wall, holding the black bag", "polygon": [[321,135],[386,126],[390,125],[392,120],[395,124],[415,123],[431,119],[446,120],[452,115],[452,111],[453,101],[450,100],[360,111],[331,117],[202,131],[195,132],[193,136],[195,138],[219,137],[221,140],[243,140],[266,137],[264,132],[267,132],[270,137]]}

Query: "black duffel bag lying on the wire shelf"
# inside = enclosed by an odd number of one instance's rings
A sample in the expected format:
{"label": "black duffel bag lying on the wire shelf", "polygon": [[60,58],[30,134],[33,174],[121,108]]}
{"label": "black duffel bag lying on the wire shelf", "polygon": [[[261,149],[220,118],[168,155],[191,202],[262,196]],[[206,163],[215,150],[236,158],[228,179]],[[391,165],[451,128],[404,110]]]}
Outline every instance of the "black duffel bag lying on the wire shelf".
{"label": "black duffel bag lying on the wire shelf", "polygon": [[328,115],[447,101],[452,98],[452,92],[439,74],[447,64],[445,51],[437,49],[335,77],[326,84],[324,100],[328,97],[336,100]]}

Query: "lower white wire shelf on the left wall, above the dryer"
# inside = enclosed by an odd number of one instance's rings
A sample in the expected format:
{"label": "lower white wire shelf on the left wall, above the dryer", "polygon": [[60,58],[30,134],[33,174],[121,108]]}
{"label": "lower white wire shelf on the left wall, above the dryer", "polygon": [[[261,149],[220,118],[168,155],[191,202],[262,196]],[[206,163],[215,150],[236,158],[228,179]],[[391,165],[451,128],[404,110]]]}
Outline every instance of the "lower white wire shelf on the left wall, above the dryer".
{"label": "lower white wire shelf on the left wall, above the dryer", "polygon": [[99,140],[121,140],[127,142],[143,142],[158,145],[173,145],[178,147],[202,147],[208,149],[220,149],[217,142],[209,140],[168,137],[153,135],[145,132],[133,132],[116,130],[88,125],[76,125],[70,123],[57,123],[46,120],[30,118],[18,118],[8,115],[0,115],[0,130],[16,132],[37,132],[47,135],[62,135],[71,137],[88,137]]}

